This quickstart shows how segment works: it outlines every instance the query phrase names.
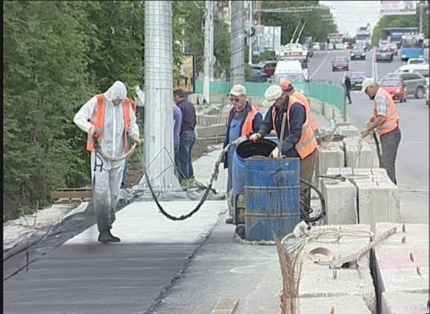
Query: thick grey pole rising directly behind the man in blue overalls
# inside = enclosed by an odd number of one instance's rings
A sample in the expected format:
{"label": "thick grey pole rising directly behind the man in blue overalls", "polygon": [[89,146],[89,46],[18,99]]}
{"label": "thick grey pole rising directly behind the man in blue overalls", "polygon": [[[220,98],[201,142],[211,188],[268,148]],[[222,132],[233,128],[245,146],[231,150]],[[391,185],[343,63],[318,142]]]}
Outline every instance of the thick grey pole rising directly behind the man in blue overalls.
{"label": "thick grey pole rising directly behind the man in blue overalls", "polygon": [[245,29],[243,1],[231,2],[230,85],[245,83]]}

